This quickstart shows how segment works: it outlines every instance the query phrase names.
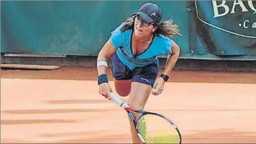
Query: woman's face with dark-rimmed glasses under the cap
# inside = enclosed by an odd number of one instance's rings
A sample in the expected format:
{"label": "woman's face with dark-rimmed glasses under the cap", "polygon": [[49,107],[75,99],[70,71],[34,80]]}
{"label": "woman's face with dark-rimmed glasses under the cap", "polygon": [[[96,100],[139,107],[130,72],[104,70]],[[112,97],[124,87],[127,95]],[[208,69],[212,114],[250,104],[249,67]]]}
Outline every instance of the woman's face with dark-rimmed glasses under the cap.
{"label": "woman's face with dark-rimmed glasses under the cap", "polygon": [[143,37],[152,34],[155,31],[156,26],[153,23],[147,23],[141,19],[141,17],[135,17],[134,32],[137,36]]}

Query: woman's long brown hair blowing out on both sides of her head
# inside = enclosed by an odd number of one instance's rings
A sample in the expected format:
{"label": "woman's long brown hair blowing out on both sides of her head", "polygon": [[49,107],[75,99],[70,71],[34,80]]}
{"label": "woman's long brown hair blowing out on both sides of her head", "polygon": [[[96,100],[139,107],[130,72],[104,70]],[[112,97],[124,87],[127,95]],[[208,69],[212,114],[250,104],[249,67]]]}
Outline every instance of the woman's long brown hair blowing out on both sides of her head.
{"label": "woman's long brown hair blowing out on both sides of her head", "polygon": [[[133,29],[134,27],[134,20],[135,16],[128,17],[128,19],[124,22],[124,26],[121,28],[121,32],[126,31],[127,29]],[[165,37],[171,38],[179,34],[178,25],[173,24],[173,18],[169,20],[165,20],[160,23],[155,24],[158,28],[154,32],[155,35],[164,35]],[[182,36],[182,35],[181,35]]]}

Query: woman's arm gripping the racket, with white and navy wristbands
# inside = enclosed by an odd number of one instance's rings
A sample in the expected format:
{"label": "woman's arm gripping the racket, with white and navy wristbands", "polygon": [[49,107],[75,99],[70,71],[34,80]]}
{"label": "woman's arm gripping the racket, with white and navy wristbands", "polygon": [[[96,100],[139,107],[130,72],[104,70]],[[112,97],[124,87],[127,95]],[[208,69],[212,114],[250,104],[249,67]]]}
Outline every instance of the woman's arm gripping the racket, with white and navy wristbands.
{"label": "woman's arm gripping the racket, with white and navy wristbands", "polygon": [[107,61],[109,61],[110,56],[112,56],[114,53],[115,48],[112,41],[109,39],[98,53],[97,58],[99,93],[105,98],[109,98],[109,100],[112,89],[107,80]]}

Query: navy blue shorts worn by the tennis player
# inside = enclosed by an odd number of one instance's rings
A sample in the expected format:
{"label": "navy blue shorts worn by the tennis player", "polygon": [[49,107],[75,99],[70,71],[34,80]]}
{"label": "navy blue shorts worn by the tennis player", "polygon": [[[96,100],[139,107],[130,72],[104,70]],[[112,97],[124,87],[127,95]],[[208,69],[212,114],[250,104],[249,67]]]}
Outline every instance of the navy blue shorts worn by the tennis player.
{"label": "navy blue shorts worn by the tennis player", "polygon": [[111,56],[110,61],[112,62],[112,74],[116,80],[132,80],[132,82],[153,86],[159,72],[158,60],[153,64],[133,70],[124,65],[116,53]]}

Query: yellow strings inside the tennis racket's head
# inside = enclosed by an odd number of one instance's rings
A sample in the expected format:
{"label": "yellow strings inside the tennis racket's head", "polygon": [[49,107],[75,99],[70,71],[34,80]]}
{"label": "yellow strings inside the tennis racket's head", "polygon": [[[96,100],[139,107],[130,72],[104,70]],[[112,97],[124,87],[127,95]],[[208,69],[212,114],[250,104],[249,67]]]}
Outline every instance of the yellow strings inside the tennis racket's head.
{"label": "yellow strings inside the tennis racket's head", "polygon": [[138,119],[137,129],[146,143],[179,143],[175,126],[156,115],[144,115]]}

